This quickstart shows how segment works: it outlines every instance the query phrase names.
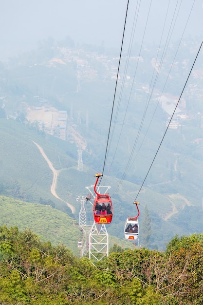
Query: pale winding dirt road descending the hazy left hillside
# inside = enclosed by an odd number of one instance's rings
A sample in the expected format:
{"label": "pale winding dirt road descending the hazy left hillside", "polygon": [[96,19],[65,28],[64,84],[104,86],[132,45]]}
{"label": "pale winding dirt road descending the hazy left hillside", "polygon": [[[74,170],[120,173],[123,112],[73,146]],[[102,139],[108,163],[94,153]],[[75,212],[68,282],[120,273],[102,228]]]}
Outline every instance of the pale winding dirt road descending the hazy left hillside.
{"label": "pale winding dirt road descending the hazy left hillside", "polygon": [[53,180],[52,180],[52,185],[51,185],[51,193],[55,196],[55,198],[65,202],[67,204],[67,206],[71,209],[72,213],[74,214],[75,212],[75,208],[74,206],[72,206],[70,203],[66,202],[65,200],[61,199],[55,191],[56,188],[56,183],[57,183],[57,178],[58,178],[58,173],[59,171],[55,170],[52,162],[49,160],[49,158],[47,157],[46,153],[43,151],[43,149],[41,148],[41,146],[39,146],[35,141],[33,141],[33,143],[37,146],[39,152],[41,152],[42,156],[44,157],[44,159],[47,161],[49,168],[52,170],[53,172]]}

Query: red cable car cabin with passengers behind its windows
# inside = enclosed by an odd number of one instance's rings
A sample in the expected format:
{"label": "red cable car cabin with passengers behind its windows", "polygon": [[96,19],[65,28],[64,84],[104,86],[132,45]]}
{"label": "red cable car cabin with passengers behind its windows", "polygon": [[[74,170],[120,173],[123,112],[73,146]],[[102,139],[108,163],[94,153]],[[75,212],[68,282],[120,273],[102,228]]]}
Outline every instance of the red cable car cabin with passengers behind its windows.
{"label": "red cable car cabin with passengers behind its windows", "polygon": [[96,224],[111,224],[113,207],[109,194],[96,195],[93,204],[93,215]]}

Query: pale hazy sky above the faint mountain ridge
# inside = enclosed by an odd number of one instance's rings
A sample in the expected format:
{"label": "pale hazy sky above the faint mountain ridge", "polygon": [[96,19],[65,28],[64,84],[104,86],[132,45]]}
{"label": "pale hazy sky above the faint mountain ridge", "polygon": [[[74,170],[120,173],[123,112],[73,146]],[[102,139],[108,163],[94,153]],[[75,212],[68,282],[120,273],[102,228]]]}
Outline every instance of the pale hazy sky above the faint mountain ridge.
{"label": "pale hazy sky above the faint mountain ridge", "polygon": [[[101,45],[103,41],[105,47],[119,50],[127,3],[128,0],[0,0],[0,60],[35,49],[40,40],[48,37],[58,41],[70,36],[75,44]],[[176,4],[180,9],[174,15]],[[158,42],[164,24],[166,37],[172,20],[172,38],[181,37],[186,22],[185,36],[201,36],[203,0],[129,0],[126,43],[133,20],[135,41],[144,38],[146,42]]]}

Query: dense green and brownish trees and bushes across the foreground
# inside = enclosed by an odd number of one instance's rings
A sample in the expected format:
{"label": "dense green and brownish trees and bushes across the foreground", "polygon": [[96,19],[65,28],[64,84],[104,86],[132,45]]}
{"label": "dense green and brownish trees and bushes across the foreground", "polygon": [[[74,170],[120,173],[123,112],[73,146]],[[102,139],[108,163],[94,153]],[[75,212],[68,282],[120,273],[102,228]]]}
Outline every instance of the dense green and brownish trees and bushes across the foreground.
{"label": "dense green and brownish trees and bushes across the foreground", "polygon": [[4,305],[200,305],[203,234],[175,236],[165,252],[117,245],[93,266],[29,229],[0,227]]}

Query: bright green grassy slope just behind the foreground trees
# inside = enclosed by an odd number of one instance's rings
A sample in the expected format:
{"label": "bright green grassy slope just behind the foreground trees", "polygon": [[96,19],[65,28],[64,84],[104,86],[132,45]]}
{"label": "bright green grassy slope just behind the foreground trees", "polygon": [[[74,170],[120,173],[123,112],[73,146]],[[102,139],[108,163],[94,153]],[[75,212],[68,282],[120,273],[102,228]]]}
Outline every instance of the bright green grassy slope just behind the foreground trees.
{"label": "bright green grassy slope just behind the foreground trees", "polygon": [[[62,243],[80,256],[77,242],[78,239],[84,240],[84,236],[78,222],[66,213],[50,206],[0,196],[0,215],[0,226],[18,227],[20,230],[29,228],[41,240],[50,241],[54,246]],[[122,248],[133,248],[128,241],[110,235],[109,247],[114,244]]]}

